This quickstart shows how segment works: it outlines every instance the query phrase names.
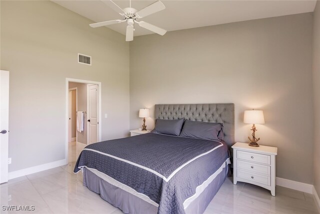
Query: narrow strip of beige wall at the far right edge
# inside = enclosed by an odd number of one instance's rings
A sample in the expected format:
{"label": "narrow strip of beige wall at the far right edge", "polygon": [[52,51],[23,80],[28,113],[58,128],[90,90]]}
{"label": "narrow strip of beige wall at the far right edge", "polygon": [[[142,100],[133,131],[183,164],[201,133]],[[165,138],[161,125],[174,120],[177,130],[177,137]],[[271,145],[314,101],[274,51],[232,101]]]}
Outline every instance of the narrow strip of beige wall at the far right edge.
{"label": "narrow strip of beige wall at the far right edge", "polygon": [[313,12],[313,103],[313,185],[317,194],[320,195],[320,1],[317,1]]}

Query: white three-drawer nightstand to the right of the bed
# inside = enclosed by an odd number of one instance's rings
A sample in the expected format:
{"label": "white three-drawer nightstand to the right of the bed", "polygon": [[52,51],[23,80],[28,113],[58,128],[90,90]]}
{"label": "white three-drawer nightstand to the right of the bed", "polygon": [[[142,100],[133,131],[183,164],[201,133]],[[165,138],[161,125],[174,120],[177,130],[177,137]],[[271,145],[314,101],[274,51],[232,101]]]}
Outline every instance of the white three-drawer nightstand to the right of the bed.
{"label": "white three-drawer nightstand to the right of the bed", "polygon": [[271,191],[275,196],[275,155],[277,147],[252,147],[248,143],[233,146],[233,184],[252,183]]}

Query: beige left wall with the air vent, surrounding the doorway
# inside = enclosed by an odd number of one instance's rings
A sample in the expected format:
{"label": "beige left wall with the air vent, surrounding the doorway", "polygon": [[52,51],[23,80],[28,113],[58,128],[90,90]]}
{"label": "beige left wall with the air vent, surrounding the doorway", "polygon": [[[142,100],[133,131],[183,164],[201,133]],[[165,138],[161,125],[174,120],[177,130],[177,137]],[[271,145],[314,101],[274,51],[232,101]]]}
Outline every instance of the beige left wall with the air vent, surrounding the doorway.
{"label": "beige left wall with the air vent, surrounding the doorway", "polygon": [[[10,71],[9,172],[65,158],[65,78],[102,83],[102,140],[129,129],[129,45],[50,1],[0,1],[1,70]],[[92,66],[77,63],[77,53]],[[116,104],[116,105],[114,105]],[[114,127],[117,127],[114,129]]]}

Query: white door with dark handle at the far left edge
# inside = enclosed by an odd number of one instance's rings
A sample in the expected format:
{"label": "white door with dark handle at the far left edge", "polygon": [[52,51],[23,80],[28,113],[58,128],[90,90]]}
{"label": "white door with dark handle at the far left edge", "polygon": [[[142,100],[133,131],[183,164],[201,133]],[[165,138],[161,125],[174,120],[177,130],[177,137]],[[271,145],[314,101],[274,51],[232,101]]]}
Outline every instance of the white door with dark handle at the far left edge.
{"label": "white door with dark handle at the far left edge", "polygon": [[0,71],[0,183],[8,181],[9,72]]}

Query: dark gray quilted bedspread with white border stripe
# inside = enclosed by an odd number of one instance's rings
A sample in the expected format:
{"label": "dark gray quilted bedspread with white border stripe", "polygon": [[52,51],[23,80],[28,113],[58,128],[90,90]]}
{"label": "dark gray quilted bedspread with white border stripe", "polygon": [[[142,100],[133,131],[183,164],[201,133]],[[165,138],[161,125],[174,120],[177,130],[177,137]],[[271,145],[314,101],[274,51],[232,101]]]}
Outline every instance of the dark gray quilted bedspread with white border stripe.
{"label": "dark gray quilted bedspread with white border stripe", "polygon": [[184,200],[227,158],[223,141],[147,133],[86,146],[74,172],[96,169],[147,195],[158,213],[184,213]]}

